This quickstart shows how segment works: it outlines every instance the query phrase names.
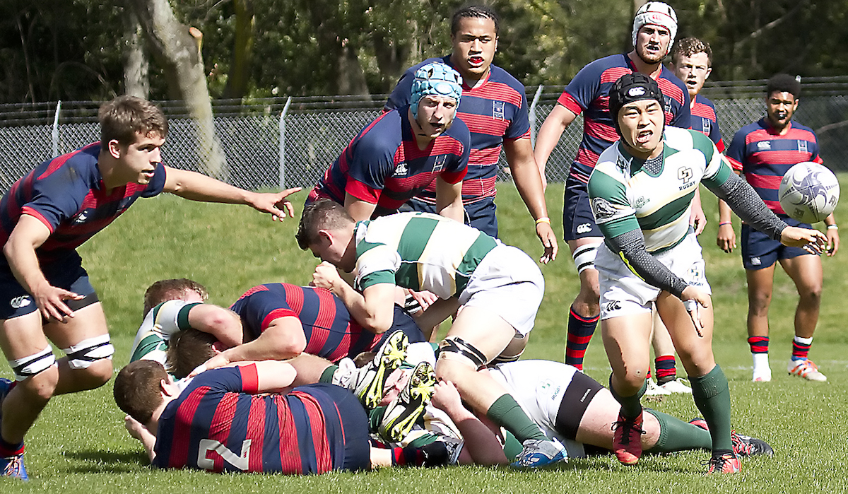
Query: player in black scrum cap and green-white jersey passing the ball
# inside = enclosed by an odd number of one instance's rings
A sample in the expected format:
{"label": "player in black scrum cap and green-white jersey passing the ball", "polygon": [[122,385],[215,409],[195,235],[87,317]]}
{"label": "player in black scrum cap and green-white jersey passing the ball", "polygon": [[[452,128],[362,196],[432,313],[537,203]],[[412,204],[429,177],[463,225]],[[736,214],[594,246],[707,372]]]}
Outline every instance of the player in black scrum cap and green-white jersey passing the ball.
{"label": "player in black scrum cap and green-white jersey passing the ball", "polygon": [[666,127],[663,101],[656,81],[642,74],[622,76],[612,85],[610,111],[622,139],[600,155],[589,178],[592,211],[605,237],[595,259],[601,330],[612,395],[622,404],[614,449],[628,465],[642,453],[640,398],[656,304],[689,374],[695,405],[709,424],[708,471],[734,473],[739,458],[731,441],[730,390],[712,354],[710,285],[689,225],[691,200],[703,182],[773,239],[818,251],[826,238],[774,216],[704,134]]}

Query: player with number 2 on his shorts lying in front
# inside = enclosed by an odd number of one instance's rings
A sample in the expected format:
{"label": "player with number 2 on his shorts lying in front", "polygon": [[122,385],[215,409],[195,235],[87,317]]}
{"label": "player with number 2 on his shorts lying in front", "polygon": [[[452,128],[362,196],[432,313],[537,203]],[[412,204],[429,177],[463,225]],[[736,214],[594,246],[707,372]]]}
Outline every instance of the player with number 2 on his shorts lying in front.
{"label": "player with number 2 on his shorts lying in front", "polygon": [[242,362],[201,373],[180,390],[159,362],[142,360],[118,373],[114,398],[144,425],[138,432],[161,469],[323,474],[445,463],[442,445],[371,448],[365,410],[350,391],[288,390],[294,374],[285,362]]}

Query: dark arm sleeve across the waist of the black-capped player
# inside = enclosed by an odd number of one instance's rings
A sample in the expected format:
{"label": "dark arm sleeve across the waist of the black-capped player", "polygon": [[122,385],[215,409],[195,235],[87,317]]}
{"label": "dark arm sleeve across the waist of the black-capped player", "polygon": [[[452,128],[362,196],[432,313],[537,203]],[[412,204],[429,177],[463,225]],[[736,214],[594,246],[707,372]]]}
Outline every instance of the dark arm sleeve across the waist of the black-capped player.
{"label": "dark arm sleeve across the waist of the black-capped player", "polygon": [[683,296],[683,289],[686,289],[688,284],[645,250],[641,230],[630,230],[611,239],[605,239],[605,242],[610,250],[622,255],[630,270],[644,281],[656,288],[666,290],[678,299]]}

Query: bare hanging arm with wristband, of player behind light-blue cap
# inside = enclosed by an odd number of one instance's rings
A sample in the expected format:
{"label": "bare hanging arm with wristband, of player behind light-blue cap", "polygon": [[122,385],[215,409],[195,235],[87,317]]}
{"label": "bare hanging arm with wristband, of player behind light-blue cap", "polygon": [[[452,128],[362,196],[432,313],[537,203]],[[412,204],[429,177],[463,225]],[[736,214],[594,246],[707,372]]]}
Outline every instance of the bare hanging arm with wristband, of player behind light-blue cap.
{"label": "bare hanging arm with wristband, of player behind light-blue cap", "polygon": [[544,254],[539,261],[547,264],[556,259],[559,245],[554,230],[550,227],[548,206],[544,202],[543,182],[533,157],[533,146],[530,139],[507,139],[504,141],[504,152],[518,194],[521,194],[527,210],[536,220],[536,235],[544,248]]}

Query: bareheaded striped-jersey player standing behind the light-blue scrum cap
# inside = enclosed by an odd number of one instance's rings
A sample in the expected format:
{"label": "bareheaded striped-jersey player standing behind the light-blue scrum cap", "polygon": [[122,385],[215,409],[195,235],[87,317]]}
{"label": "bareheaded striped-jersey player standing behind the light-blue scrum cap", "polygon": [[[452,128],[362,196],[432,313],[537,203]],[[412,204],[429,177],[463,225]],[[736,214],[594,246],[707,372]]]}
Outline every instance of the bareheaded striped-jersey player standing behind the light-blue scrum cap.
{"label": "bareheaded striped-jersey player standing behind the light-blue scrum cap", "polygon": [[[457,117],[471,131],[468,173],[462,182],[466,222],[498,237],[494,184],[503,149],[516,188],[536,220],[536,234],[544,248],[541,261],[547,263],[556,258],[558,246],[544,202],[544,174],[540,174],[533,159],[524,86],[506,70],[492,64],[498,48],[499,27],[498,14],[491,8],[471,5],[457,10],[450,23],[453,51],[406,70],[389,96],[386,110],[410,103],[410,87],[421,66],[441,62],[458,70],[462,76],[462,99]],[[438,212],[436,192],[437,188],[431,185],[411,199],[405,211]]]}

